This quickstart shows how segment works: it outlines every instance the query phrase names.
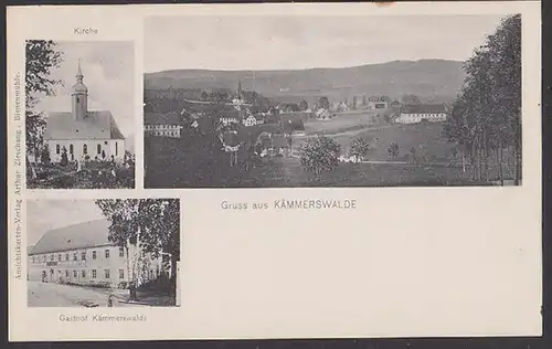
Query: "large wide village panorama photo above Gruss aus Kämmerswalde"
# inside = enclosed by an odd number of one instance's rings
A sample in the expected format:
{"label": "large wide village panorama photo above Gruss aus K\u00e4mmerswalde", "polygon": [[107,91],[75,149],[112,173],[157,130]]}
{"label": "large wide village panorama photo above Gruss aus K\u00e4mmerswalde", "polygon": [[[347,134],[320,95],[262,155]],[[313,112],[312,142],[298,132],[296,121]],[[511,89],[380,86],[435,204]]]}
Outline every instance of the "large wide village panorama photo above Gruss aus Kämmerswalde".
{"label": "large wide village panorama photo above Gruss aus K\u00e4mmerswalde", "polygon": [[521,184],[519,14],[151,17],[144,53],[146,188]]}

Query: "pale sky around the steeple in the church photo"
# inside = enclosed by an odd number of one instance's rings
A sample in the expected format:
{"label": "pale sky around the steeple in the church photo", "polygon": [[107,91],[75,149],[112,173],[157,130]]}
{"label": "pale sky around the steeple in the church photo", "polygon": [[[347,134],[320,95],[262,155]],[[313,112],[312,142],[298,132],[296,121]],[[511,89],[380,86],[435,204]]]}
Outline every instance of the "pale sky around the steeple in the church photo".
{"label": "pale sky around the steeple in the church photo", "polygon": [[[110,110],[123,134],[135,131],[135,53],[132,42],[57,42],[63,62],[51,77],[62,80],[55,96],[43,97],[36,109],[71,112],[71,91],[81,60],[88,87],[88,109]],[[128,148],[128,145],[127,145]]]}

